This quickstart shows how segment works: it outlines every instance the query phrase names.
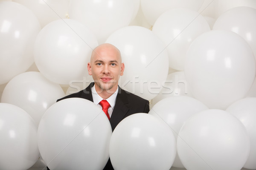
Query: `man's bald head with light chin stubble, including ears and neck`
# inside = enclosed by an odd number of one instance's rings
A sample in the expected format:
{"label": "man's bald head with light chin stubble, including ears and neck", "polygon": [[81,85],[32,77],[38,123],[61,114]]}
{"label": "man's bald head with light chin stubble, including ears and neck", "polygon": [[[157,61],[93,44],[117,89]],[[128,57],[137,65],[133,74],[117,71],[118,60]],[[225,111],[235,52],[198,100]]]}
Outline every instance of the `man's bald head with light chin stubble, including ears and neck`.
{"label": "man's bald head with light chin stubble, including ears and neck", "polygon": [[123,75],[119,51],[113,46],[96,48],[88,63],[88,73],[93,76],[96,91],[116,91],[119,77]]}

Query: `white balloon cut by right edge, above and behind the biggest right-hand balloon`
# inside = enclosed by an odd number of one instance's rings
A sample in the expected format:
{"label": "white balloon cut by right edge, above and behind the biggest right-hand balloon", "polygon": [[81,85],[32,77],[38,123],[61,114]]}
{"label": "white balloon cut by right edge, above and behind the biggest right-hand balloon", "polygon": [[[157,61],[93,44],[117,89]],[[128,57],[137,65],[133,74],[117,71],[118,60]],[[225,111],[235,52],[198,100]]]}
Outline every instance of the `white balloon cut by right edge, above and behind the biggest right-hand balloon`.
{"label": "white balloon cut by right edge, above and behind the biggest right-hand balloon", "polygon": [[[246,19],[245,19],[246,18]],[[213,30],[233,31],[243,37],[253,49],[256,58],[256,8],[231,8],[217,18]]]}

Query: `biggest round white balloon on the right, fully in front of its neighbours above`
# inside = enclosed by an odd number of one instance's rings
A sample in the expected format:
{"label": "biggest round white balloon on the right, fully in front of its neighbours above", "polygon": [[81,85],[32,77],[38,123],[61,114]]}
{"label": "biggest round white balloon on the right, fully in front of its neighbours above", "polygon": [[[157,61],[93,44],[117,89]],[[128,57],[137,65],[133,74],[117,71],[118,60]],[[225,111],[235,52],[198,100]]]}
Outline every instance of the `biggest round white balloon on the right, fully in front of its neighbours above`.
{"label": "biggest round white balloon on the right, fully in front of its neighbours above", "polygon": [[255,59],[241,36],[214,30],[192,42],[184,72],[196,99],[209,108],[226,109],[249,91],[255,77]]}

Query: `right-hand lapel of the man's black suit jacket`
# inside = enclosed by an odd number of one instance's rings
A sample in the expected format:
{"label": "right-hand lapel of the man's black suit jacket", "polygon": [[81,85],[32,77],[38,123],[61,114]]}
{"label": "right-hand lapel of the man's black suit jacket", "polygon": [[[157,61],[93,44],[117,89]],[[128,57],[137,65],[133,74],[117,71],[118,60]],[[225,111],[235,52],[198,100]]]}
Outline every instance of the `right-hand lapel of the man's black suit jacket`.
{"label": "right-hand lapel of the man's black suit jacket", "polygon": [[112,130],[116,127],[116,125],[124,119],[126,113],[129,111],[129,103],[126,98],[125,91],[118,87],[118,94],[116,96],[116,104],[114,110],[112,112],[110,123]]}

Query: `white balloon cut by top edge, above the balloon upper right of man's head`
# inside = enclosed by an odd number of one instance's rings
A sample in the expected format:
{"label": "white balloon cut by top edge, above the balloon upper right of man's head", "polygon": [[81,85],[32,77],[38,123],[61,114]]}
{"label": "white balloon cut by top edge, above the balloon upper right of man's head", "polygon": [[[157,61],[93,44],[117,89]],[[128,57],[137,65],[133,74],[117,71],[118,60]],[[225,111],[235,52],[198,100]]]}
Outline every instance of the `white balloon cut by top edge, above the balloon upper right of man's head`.
{"label": "white balloon cut by top edge, above the balloon upper right of man's head", "polygon": [[198,11],[204,0],[141,0],[141,8],[152,26],[157,18],[165,11],[173,8],[187,8]]}

